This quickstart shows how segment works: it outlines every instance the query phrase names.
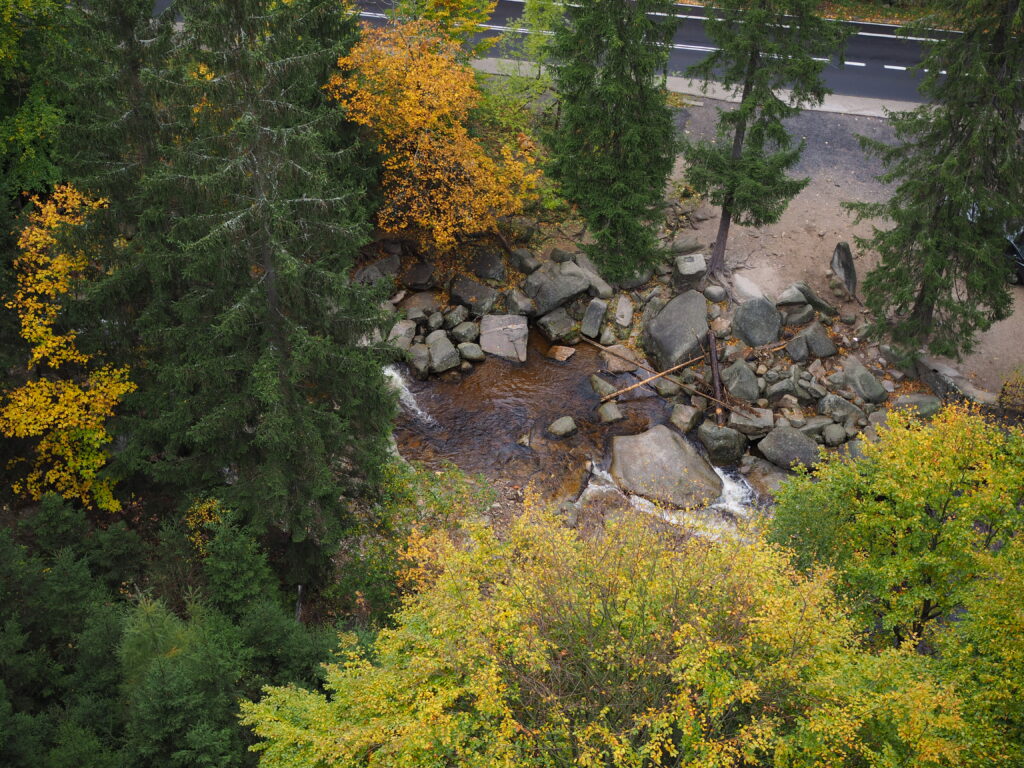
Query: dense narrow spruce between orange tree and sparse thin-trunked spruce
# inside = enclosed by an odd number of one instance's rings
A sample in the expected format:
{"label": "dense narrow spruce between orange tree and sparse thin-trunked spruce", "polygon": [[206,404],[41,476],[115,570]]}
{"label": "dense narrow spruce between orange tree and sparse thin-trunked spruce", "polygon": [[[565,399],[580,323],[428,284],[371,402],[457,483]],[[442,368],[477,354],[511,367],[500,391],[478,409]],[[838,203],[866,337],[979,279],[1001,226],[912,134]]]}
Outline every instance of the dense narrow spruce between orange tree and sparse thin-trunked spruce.
{"label": "dense narrow spruce between orange tree and sparse thin-trunked spruce", "polygon": [[597,241],[594,259],[626,278],[656,255],[654,221],[672,172],[675,133],[666,96],[671,0],[566,4],[549,66],[558,93],[550,172]]}

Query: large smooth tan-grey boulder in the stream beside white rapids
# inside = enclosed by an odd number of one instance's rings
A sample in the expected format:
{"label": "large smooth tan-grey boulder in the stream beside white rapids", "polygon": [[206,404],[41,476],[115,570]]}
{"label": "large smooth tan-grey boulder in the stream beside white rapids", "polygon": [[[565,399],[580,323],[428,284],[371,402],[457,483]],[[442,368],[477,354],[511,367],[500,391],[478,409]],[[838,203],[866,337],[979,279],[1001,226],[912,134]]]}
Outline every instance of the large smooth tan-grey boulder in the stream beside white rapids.
{"label": "large smooth tan-grey boulder in the stream beside white rapids", "polygon": [[722,494],[708,461],[665,425],[612,437],[611,476],[624,490],[671,507],[707,505]]}

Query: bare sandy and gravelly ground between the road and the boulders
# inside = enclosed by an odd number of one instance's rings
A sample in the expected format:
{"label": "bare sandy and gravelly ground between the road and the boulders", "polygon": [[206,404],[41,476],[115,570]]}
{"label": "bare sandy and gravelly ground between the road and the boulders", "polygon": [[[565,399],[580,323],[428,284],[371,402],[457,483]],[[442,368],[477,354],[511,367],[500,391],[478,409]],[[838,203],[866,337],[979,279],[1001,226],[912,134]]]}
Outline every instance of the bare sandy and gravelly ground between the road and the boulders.
{"label": "bare sandy and gravelly ground between the road and the boulders", "polygon": [[[731,104],[702,99],[685,110],[680,125],[694,138],[714,135],[717,110]],[[790,204],[776,224],[764,227],[733,226],[729,232],[727,262],[733,270],[757,283],[766,293],[777,294],[795,281],[806,281],[829,300],[825,270],[840,241],[853,248],[859,278],[873,266],[874,255],[862,253],[854,245],[855,236],[870,233],[870,222],[854,224],[842,207],[845,201],[879,201],[887,196],[886,185],[876,180],[881,165],[860,150],[857,134],[891,140],[887,121],[880,118],[805,112],[788,123],[791,132],[803,137],[807,146],[795,173],[811,178],[807,187]],[[719,211],[706,206],[709,216],[698,225],[710,245],[718,232]],[[976,350],[955,365],[976,386],[997,392],[1002,382],[1024,368],[1024,287],[1011,288],[1016,311],[1008,319],[980,334]],[[853,302],[844,312],[862,308]]]}

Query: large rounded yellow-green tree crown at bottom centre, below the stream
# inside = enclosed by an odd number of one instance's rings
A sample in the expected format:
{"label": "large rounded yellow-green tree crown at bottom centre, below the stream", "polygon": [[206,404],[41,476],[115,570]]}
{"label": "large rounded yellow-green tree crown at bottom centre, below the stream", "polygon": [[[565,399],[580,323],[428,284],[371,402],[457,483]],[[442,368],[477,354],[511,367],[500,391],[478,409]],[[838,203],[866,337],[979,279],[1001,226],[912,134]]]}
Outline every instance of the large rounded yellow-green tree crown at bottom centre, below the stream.
{"label": "large rounded yellow-green tree crown at bottom centre, below the stream", "polygon": [[778,550],[536,513],[457,539],[414,541],[423,591],[328,666],[329,696],[243,706],[262,766],[954,764],[955,699],[904,652],[853,650]]}

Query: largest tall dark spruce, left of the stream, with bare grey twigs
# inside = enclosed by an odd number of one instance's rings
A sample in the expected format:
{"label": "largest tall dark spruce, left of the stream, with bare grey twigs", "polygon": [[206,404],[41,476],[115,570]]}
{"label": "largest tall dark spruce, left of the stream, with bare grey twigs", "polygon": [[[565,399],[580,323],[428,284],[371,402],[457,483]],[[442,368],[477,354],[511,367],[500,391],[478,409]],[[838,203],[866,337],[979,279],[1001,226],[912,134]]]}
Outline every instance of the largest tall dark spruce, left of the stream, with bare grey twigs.
{"label": "largest tall dark spruce, left of the stream, with bare grey twigs", "polygon": [[140,80],[159,123],[137,227],[96,291],[125,304],[94,328],[119,318],[137,356],[119,464],[323,553],[385,462],[393,415],[381,297],[348,275],[369,234],[367,156],[322,91],[355,23],[323,0],[169,12],[173,46]]}

